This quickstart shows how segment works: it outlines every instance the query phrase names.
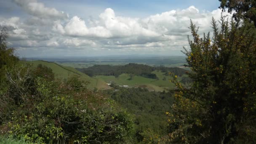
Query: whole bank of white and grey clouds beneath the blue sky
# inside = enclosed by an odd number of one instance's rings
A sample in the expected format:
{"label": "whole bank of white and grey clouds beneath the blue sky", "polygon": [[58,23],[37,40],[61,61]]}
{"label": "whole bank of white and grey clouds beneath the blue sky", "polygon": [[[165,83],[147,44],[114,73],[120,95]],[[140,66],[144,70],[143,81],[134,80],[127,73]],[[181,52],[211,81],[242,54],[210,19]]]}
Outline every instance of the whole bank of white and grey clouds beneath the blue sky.
{"label": "whole bank of white and grey clouds beneath the blue sky", "polygon": [[[32,16],[24,20],[0,17],[0,27],[9,27],[12,46],[42,51],[43,48],[67,48],[68,51],[84,50],[88,53],[113,49],[115,53],[171,53],[188,45],[190,19],[200,27],[199,33],[202,34],[211,32],[211,18],[218,20],[221,15],[219,9],[200,11],[190,6],[184,10],[134,18],[117,16],[113,9],[107,8],[87,20],[78,15],[68,18],[66,13],[48,8],[37,0],[14,2]],[[228,13],[223,15],[231,16]]]}

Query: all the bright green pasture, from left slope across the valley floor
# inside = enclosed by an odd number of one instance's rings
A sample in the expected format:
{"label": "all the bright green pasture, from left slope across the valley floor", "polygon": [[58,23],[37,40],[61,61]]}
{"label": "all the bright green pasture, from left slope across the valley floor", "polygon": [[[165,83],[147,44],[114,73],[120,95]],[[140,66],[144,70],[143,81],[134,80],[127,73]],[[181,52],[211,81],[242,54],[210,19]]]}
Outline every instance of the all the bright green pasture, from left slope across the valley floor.
{"label": "all the bright green pasture, from left slope across the valley floor", "polygon": [[[89,77],[88,75],[84,74],[83,72],[80,72],[76,70],[73,67],[66,67],[62,66],[60,64],[56,64],[54,62],[48,62],[48,61],[21,61],[23,64],[32,64],[33,67],[37,67],[38,64],[45,65],[46,67],[50,67],[53,70],[53,73],[55,74],[56,78],[60,79],[67,79],[68,77],[71,77],[72,75],[78,75],[82,80],[89,81],[88,88],[99,88],[99,89],[108,89],[110,88],[107,83],[115,83],[117,85],[128,85],[129,87],[145,87],[149,89],[149,91],[163,91],[165,88],[173,88],[173,83],[170,83],[171,77],[168,75],[164,75],[164,72],[160,72],[158,70],[155,70],[154,73],[159,78],[151,79],[141,76],[133,76],[132,80],[129,80],[130,75],[129,74],[122,74],[118,77],[115,76],[104,76],[99,75],[95,77]],[[182,77],[185,77],[186,75],[183,75]],[[178,77],[178,80],[181,80],[182,77]]]}

